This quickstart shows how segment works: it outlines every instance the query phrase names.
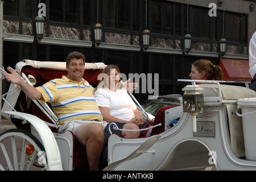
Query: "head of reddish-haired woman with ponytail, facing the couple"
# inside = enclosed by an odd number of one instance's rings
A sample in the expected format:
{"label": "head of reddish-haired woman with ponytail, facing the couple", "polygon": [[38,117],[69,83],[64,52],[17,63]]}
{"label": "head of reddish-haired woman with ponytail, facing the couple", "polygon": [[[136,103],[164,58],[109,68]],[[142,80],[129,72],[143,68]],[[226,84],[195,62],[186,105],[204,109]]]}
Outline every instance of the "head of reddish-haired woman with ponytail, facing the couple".
{"label": "head of reddish-haired woman with ponytail, facing the couple", "polygon": [[223,72],[220,66],[207,59],[200,59],[192,63],[189,77],[192,80],[222,80]]}

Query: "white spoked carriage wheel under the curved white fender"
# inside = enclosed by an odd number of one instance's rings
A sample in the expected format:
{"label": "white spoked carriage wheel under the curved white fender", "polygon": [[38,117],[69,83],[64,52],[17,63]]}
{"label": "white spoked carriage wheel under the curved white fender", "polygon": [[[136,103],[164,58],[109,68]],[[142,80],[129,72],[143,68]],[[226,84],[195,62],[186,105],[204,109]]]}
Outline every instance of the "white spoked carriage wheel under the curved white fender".
{"label": "white spoked carriage wheel under the curved white fender", "polygon": [[0,171],[48,169],[44,154],[42,143],[28,131],[11,129],[0,135],[0,156],[5,157],[0,160]]}

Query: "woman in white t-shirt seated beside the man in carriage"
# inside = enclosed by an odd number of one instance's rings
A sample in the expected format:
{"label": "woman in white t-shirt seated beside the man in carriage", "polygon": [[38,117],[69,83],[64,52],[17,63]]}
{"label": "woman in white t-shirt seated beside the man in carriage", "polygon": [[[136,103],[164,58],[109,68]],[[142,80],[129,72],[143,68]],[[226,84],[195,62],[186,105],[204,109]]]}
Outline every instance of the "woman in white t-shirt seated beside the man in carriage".
{"label": "woman in white t-shirt seated beside the man in carriage", "polygon": [[[125,89],[116,65],[108,65],[94,93],[101,114],[106,122],[126,123],[123,129],[138,130],[143,125],[142,114]],[[139,137],[139,131],[122,131],[122,137]]]}

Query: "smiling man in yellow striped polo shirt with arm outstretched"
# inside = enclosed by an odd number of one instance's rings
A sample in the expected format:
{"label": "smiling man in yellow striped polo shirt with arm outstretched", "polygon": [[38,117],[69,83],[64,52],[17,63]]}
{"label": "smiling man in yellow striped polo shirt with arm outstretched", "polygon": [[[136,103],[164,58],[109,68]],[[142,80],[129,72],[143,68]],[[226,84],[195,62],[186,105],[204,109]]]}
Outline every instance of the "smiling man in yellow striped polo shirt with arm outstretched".
{"label": "smiling man in yellow striped polo shirt with arm outstretched", "polygon": [[104,127],[107,123],[103,121],[92,86],[82,78],[85,56],[79,52],[71,52],[66,62],[67,76],[51,80],[38,88],[26,84],[11,68],[7,68],[10,74],[2,74],[7,81],[18,84],[32,100],[51,102],[61,125],[59,131],[73,131],[76,139],[86,146],[89,169],[98,170],[104,144]]}

